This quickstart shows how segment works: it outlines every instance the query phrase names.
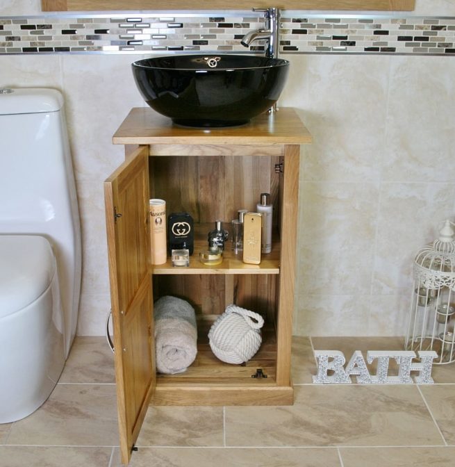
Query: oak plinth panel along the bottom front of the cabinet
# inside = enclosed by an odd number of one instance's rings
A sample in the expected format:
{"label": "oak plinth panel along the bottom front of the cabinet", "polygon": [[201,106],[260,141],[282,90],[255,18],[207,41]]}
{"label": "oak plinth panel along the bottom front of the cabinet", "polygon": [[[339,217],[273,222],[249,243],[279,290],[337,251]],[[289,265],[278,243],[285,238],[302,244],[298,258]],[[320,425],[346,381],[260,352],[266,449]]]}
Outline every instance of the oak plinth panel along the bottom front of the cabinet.
{"label": "oak plinth panel along the bottom front of the cabinet", "polygon": [[292,386],[169,387],[157,384],[151,405],[292,405]]}

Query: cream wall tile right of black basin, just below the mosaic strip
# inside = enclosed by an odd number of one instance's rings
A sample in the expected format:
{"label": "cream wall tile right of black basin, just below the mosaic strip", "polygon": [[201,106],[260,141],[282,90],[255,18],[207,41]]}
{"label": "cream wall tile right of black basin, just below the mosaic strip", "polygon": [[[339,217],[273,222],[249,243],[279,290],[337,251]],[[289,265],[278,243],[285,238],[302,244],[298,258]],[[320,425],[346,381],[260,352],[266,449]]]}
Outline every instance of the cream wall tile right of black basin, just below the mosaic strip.
{"label": "cream wall tile right of black basin, just below the mosaic strip", "polygon": [[[313,135],[302,166],[305,179],[379,181],[390,57],[306,55],[300,60],[282,105],[304,109]],[[308,93],[299,91],[297,79]]]}

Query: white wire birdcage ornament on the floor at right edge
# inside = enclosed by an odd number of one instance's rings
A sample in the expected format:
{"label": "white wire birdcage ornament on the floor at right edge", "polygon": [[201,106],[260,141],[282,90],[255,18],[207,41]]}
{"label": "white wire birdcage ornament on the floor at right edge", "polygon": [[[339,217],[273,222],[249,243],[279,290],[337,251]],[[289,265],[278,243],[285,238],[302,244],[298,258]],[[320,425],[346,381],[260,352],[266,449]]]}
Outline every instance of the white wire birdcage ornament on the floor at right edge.
{"label": "white wire birdcage ornament on the floor at right edge", "polygon": [[455,231],[449,220],[438,240],[417,252],[406,350],[434,350],[435,364],[455,361]]}

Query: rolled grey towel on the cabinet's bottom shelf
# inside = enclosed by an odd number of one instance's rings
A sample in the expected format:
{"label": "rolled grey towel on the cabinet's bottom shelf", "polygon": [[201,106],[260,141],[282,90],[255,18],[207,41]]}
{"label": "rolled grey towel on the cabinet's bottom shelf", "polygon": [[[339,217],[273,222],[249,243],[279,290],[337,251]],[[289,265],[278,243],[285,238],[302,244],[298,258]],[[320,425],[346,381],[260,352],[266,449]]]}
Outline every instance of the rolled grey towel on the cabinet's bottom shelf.
{"label": "rolled grey towel on the cabinet's bottom shelf", "polygon": [[197,354],[195,309],[167,295],[155,302],[154,320],[156,369],[171,375],[185,371]]}

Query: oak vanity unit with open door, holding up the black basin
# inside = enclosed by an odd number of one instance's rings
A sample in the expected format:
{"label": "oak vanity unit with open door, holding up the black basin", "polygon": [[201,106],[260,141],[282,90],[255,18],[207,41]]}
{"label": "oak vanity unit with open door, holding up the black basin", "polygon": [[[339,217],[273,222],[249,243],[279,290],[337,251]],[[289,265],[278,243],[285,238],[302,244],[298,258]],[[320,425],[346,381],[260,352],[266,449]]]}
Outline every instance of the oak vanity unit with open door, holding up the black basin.
{"label": "oak vanity unit with open door, holding up the black basin", "polygon": [[[124,163],[105,182],[115,373],[122,461],[127,463],[149,404],[292,404],[292,311],[300,145],[311,136],[295,110],[263,114],[245,126],[185,129],[150,108],[134,108],[113,137],[125,145]],[[217,266],[199,261],[214,221],[229,226],[237,211],[255,211],[261,192],[274,205],[270,254],[260,265],[242,262],[226,243]],[[152,266],[149,198],[166,201],[167,215],[195,221],[189,268],[170,258]],[[156,374],[153,302],[176,295],[195,307],[198,354],[186,372]],[[256,356],[237,366],[219,361],[208,329],[228,304],[265,318]]]}

